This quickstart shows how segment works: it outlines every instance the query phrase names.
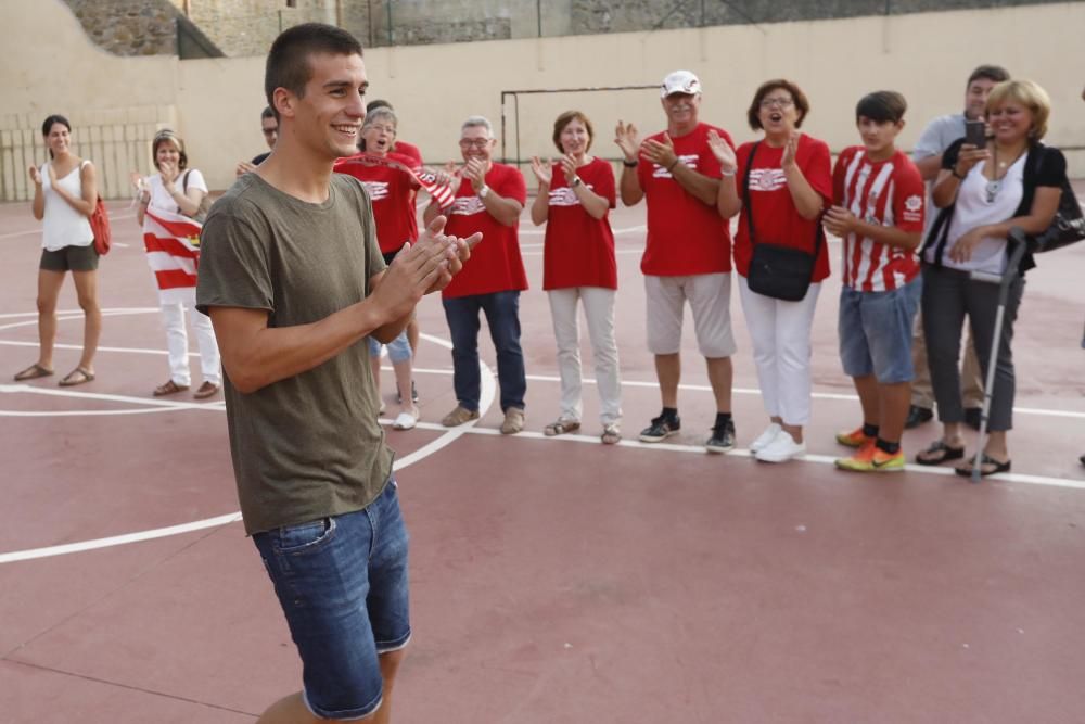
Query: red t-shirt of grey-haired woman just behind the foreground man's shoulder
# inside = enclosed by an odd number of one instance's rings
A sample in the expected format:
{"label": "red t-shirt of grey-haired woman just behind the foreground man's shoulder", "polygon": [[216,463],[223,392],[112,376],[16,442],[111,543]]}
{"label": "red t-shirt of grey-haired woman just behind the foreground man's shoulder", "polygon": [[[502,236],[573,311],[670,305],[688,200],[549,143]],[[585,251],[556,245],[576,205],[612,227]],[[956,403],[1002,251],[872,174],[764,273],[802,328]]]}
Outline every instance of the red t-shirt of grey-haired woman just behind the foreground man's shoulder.
{"label": "red t-shirt of grey-haired woman just behind the foreground man's shoulder", "polygon": [[[393,166],[358,163],[350,156],[335,162],[335,170],[349,174],[365,185],[373,203],[376,242],[382,254],[397,252],[404,242],[418,239],[414,196],[418,181],[409,172]],[[352,163],[353,162],[353,163]]]}

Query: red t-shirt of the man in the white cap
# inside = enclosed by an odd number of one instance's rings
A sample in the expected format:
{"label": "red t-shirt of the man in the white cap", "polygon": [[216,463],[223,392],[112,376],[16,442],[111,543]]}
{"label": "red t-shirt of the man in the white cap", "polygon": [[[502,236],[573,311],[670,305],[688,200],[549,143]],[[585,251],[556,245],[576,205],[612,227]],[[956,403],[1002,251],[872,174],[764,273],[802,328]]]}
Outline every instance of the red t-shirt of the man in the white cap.
{"label": "red t-shirt of the man in the white cap", "polygon": [[[709,148],[707,124],[698,124],[689,134],[672,138],[679,163],[702,176],[719,178],[719,162]],[[730,135],[715,129],[733,148]],[[663,140],[665,131],[651,136]],[[658,277],[681,277],[731,270],[731,232],[716,212],[716,202],[699,201],[681,188],[666,168],[643,156],[637,178],[648,200],[648,240],[640,270]]]}

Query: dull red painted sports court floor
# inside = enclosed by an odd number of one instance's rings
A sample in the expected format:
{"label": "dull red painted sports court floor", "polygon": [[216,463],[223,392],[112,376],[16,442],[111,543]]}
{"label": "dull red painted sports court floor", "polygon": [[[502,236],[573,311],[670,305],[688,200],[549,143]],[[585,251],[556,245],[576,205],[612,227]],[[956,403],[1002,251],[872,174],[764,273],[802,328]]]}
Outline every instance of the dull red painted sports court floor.
{"label": "dull red painted sports court floor", "polygon": [[[221,396],[151,396],[168,377],[155,288],[132,211],[111,211],[98,379],[59,388],[81,344],[74,288],[58,374],[13,382],[37,354],[40,227],[28,204],[0,206],[0,722],[252,722],[299,687],[299,663],[234,515]],[[414,628],[395,721],[1085,721],[1085,244],[1029,275],[1013,473],[971,485],[948,469],[833,468],[832,433],[860,421],[837,354],[837,277],[818,304],[806,460],[758,463],[744,449],[767,421],[737,294],[742,449],[700,447],[714,409],[689,328],[682,434],[634,442],[659,411],[643,214],[612,216],[618,446],[598,442],[590,384],[584,434],[541,434],[559,386],[529,221],[527,431],[498,434],[492,374],[477,424],[439,425],[456,404],[448,334],[439,300],[420,308],[423,422],[388,431]],[[384,390],[392,402],[391,371]],[[910,431],[906,449],[936,435],[934,423]]]}

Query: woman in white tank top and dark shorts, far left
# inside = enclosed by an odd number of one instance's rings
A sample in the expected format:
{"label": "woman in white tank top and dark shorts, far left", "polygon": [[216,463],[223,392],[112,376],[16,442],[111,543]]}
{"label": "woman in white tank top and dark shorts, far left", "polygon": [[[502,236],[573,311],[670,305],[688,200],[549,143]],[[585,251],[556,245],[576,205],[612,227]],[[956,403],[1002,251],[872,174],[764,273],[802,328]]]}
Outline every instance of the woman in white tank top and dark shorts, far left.
{"label": "woman in white tank top and dark shorts, far left", "polygon": [[41,126],[50,161],[29,167],[34,182],[34,218],[43,220],[41,264],[38,270],[38,361],[15,374],[16,381],[53,373],[53,344],[56,341],[56,300],[64,275],[72,272],[82,308],[82,356],[61,385],[82,384],[94,379],[94,353],[102,333],[102,310],[98,306],[98,252],[90,230],[90,216],[98,201],[94,165],[72,153],[72,125],[51,115]]}

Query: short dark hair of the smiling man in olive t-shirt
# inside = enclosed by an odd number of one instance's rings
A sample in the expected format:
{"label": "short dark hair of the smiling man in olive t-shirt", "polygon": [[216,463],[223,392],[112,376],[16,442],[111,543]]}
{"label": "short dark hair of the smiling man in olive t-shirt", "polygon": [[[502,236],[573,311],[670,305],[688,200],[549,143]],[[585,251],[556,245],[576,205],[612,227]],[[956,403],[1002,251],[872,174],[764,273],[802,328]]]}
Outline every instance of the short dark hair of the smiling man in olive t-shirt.
{"label": "short dark hair of the smiling man in olive t-shirt", "polygon": [[323,23],[303,23],[280,33],[271,43],[264,71],[264,93],[276,120],[279,119],[279,110],[275,107],[276,88],[285,88],[303,98],[305,86],[312,77],[309,55],[316,53],[361,55],[361,43],[346,30]]}

